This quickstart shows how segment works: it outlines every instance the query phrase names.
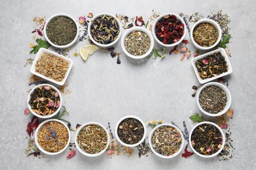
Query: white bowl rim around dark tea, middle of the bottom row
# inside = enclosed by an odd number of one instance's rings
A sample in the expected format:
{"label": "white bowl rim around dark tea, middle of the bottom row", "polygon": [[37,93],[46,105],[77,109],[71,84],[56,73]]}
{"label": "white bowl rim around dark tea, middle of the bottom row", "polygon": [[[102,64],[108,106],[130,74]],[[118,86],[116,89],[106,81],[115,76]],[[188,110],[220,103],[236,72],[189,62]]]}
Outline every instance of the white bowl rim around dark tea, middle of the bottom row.
{"label": "white bowl rim around dark tea, middle of the bottom row", "polygon": [[[137,120],[139,120],[139,122],[142,124],[143,128],[144,128],[144,134],[143,134],[143,137],[142,139],[140,139],[139,143],[135,143],[135,144],[127,144],[127,143],[123,143],[123,141],[121,141],[121,139],[119,138],[118,136],[118,126],[121,122],[123,122],[123,120],[127,119],[127,118],[135,118]],[[124,146],[127,146],[127,147],[135,147],[135,146],[138,146],[140,143],[142,143],[144,141],[144,139],[146,139],[146,125],[144,124],[144,122],[138,118],[137,116],[133,116],[133,115],[129,115],[129,116],[124,116],[123,118],[121,118],[117,124],[116,124],[116,128],[115,128],[115,135],[116,135],[116,139],[119,143],[123,144]]]}

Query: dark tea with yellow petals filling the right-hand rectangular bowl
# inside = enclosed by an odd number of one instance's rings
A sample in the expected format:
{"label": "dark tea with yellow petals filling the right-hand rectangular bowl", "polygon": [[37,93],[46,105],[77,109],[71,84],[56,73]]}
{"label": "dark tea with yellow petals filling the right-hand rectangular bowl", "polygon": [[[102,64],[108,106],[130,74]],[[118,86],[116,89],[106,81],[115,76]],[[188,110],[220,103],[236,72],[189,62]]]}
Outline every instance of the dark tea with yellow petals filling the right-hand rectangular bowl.
{"label": "dark tea with yellow petals filling the right-hand rectangular bowl", "polygon": [[221,52],[198,59],[195,65],[202,79],[221,75],[228,71],[228,65],[226,64],[224,56],[221,55]]}

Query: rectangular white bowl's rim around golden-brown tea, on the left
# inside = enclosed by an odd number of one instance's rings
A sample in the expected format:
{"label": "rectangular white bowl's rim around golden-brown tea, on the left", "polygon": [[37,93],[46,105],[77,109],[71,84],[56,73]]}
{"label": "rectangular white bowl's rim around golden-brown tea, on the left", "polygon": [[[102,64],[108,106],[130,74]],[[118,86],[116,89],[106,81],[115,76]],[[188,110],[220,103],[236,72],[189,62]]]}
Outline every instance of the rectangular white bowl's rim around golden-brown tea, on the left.
{"label": "rectangular white bowl's rim around golden-brown tea, on the left", "polygon": [[[37,63],[38,59],[42,56],[42,54],[46,52],[48,54],[53,54],[54,56],[56,57],[59,57],[59,58],[62,58],[66,61],[68,61],[69,65],[68,65],[68,70],[65,74],[65,77],[63,78],[62,81],[58,82],[56,80],[54,80],[53,78],[49,78],[47,76],[44,76],[44,75],[41,75],[40,73],[37,73],[35,71],[35,64]],[[37,52],[37,56],[35,56],[35,59],[33,60],[33,64],[30,68],[30,73],[32,73],[33,75],[36,75],[36,76],[39,76],[45,80],[48,80],[49,82],[53,82],[54,84],[58,84],[60,86],[63,86],[63,84],[66,82],[66,79],[68,78],[68,75],[70,74],[70,70],[72,68],[72,65],[73,65],[73,60],[72,59],[69,59],[69,58],[66,58],[64,56],[61,56],[60,54],[56,53],[56,52],[52,52],[51,50],[47,50],[45,48],[40,48],[39,51]]]}

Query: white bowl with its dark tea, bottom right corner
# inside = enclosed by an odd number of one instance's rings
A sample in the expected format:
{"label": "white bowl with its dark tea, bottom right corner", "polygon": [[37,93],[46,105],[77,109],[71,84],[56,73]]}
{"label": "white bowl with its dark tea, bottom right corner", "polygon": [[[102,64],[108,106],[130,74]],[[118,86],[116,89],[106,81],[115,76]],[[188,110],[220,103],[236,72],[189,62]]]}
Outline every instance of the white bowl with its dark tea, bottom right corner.
{"label": "white bowl with its dark tea, bottom right corner", "polygon": [[217,156],[225,145],[223,130],[213,122],[196,124],[190,132],[189,144],[198,156],[203,158]]}

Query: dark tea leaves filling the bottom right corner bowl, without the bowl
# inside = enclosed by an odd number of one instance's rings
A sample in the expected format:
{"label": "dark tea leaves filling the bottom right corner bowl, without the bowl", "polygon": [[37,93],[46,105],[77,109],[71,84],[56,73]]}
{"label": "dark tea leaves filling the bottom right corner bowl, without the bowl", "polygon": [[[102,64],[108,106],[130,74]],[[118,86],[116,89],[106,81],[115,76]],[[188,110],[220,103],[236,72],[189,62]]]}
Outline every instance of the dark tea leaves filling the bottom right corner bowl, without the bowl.
{"label": "dark tea leaves filling the bottom right corner bowl, without the bowl", "polygon": [[192,132],[191,143],[196,152],[209,156],[218,152],[222,147],[223,139],[217,127],[202,124]]}

